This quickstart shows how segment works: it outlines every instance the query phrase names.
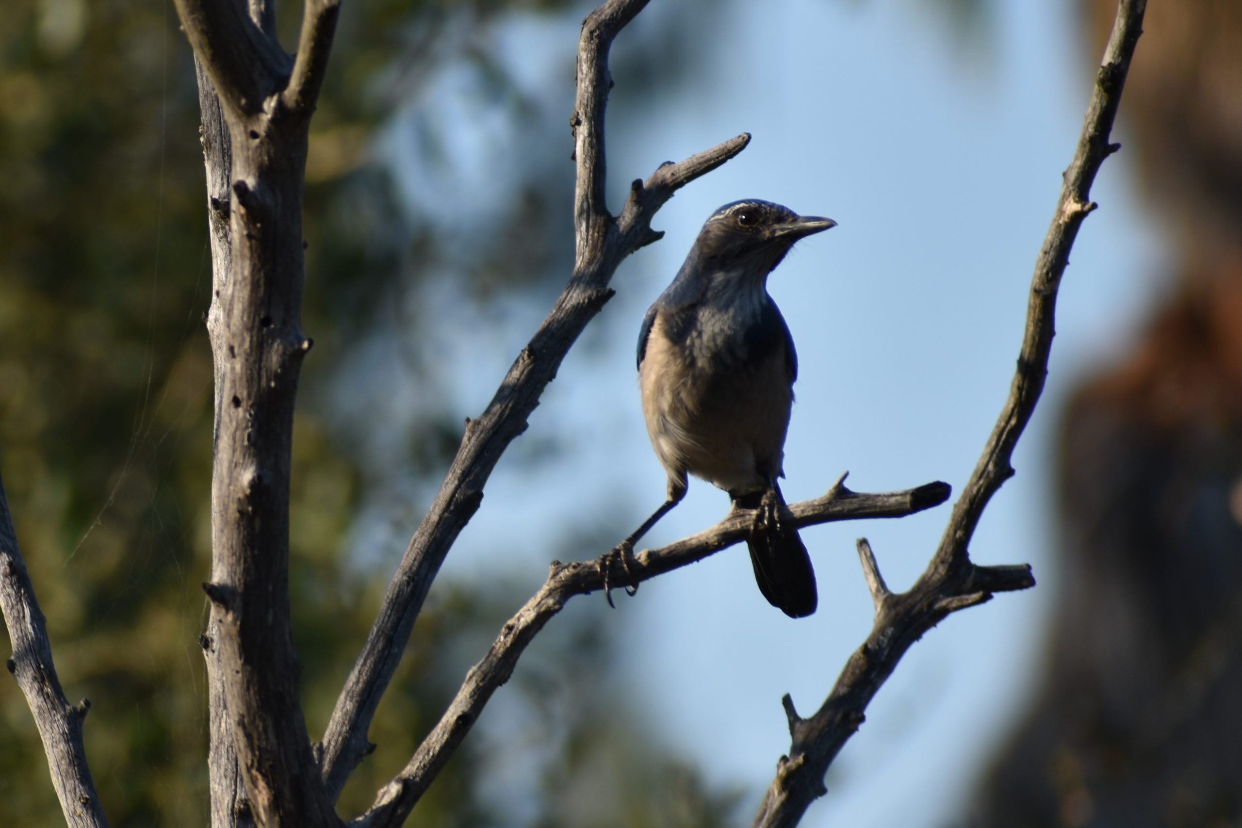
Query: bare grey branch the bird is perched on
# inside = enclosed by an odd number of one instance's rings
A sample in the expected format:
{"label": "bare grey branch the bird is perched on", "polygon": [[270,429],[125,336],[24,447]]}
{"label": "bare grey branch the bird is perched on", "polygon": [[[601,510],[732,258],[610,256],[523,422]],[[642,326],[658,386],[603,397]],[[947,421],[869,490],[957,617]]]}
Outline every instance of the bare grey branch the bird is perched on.
{"label": "bare grey branch the bird is perched on", "polygon": [[[797,526],[857,520],[863,518],[902,518],[943,503],[949,497],[944,483],[887,494],[859,494],[838,480],[815,500],[790,506]],[[754,524],[754,511],[734,509],[724,520],[705,531],[661,549],[646,550],[628,565],[620,560],[554,561],[548,581],[501,629],[487,655],[476,664],[405,768],[380,788],[370,811],[350,823],[354,828],[395,828],[414,808],[427,786],[461,745],[496,690],[509,680],[527,644],[575,595],[604,590],[606,583],[638,583],[700,561],[740,540]],[[609,571],[601,571],[607,566]],[[605,581],[605,576],[607,580]],[[792,709],[792,703],[786,708]]]}

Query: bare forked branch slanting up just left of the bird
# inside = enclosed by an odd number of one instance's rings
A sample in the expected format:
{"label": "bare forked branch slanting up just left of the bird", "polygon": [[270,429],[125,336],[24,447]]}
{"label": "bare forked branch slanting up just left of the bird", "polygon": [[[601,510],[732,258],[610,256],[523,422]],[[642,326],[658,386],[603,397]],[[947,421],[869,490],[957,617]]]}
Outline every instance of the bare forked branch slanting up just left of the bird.
{"label": "bare forked branch slanting up just left of the bird", "polygon": [[643,5],[646,0],[610,0],[582,26],[574,109],[578,156],[574,273],[487,408],[467,422],[440,493],[392,576],[319,746],[323,780],[333,801],[370,750],[366,732],[375,708],[396,670],[445,556],[482,503],[483,487],[501,456],[525,431],[527,418],[565,354],[612,297],[609,282],[617,266],[631,252],[660,237],[651,230],[651,220],[678,189],[740,153],[750,139],[739,135],[681,164],[661,166],[646,184],[632,189],[620,220],[609,215],[602,202],[604,107],[611,83],[607,53],[612,38]]}

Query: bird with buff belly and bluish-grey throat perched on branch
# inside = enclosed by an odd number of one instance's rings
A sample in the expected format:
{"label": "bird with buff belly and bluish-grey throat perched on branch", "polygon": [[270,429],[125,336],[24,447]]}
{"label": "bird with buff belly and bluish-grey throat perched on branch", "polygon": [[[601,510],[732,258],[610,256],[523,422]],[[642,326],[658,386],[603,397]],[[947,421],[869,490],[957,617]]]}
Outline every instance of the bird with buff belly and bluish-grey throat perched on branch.
{"label": "bird with buff belly and bluish-grey throat perched on branch", "polygon": [[687,475],[754,509],[746,545],[759,590],[792,618],[815,612],[815,570],[777,485],[797,353],[768,276],[800,238],[835,227],[822,216],[745,199],[703,223],[686,262],[638,333],[638,385],[656,457],[668,475],[660,506],[614,551],[633,545],[686,497]]}

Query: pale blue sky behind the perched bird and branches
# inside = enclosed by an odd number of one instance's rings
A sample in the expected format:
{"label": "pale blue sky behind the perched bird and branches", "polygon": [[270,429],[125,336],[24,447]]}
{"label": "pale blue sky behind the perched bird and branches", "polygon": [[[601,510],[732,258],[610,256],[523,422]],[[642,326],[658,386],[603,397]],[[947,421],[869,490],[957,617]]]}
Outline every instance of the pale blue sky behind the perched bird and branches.
{"label": "pale blue sky behind the perched bird and branches", "polygon": [[[622,37],[658,26],[658,5]],[[754,139],[679,192],[653,222],[664,240],[621,266],[616,298],[523,437],[571,451],[534,470],[502,463],[450,557],[450,576],[493,571],[503,547],[507,566],[528,571],[534,588],[551,557],[542,528],[628,526],[662,500],[633,340],[702,221],[739,197],[840,222],[802,242],[769,283],[801,358],[786,497],[817,495],[845,470],[857,490],[933,479],[960,490],[1009,390],[1031,269],[1094,63],[1068,0],[995,6],[991,45],[972,50],[920,0],[720,4],[723,20],[691,82],[610,109],[614,210],[627,182],[661,161],[740,132]],[[520,82],[535,87],[571,60],[576,21],[517,19],[498,37]],[[555,106],[568,113],[570,101]],[[457,117],[468,120],[469,112]],[[568,130],[559,138],[568,150]],[[980,562],[1031,562],[1040,586],[954,616],[912,649],[806,826],[945,824],[1033,689],[1058,588],[1049,552],[1057,411],[1074,377],[1118,351],[1160,289],[1154,277],[1166,253],[1138,204],[1131,163],[1123,151],[1097,182],[1100,210],[1066,276],[1045,398],[1018,447],[1017,477],[972,544]],[[453,391],[463,415],[486,405],[545,310],[519,302],[487,335],[440,343],[452,365],[468,366],[469,380]],[[584,515],[582,504],[609,504],[610,514]],[[647,542],[698,531],[727,508],[723,493],[692,483]],[[745,786],[749,809],[789,747],[781,695],[814,710],[869,629],[854,539],[869,538],[891,587],[904,588],[935,549],[948,510],[807,530],[821,600],[804,621],[768,606],[741,547],[645,585],[615,613],[623,631],[619,680],[671,749],[708,778]],[[573,623],[571,610],[558,622]]]}

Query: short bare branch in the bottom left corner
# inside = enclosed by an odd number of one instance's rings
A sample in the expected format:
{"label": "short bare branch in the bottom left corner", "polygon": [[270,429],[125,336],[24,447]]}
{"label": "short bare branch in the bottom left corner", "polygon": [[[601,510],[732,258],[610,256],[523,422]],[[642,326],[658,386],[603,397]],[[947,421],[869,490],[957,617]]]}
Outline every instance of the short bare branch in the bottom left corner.
{"label": "short bare branch in the bottom left corner", "polygon": [[91,703],[82,699],[70,704],[61,689],[52,663],[52,644],[47,638],[47,623],[35,598],[35,586],[30,582],[26,562],[17,546],[9,500],[0,479],[0,610],[12,642],[12,658],[6,663],[9,672],[26,696],[26,704],[35,716],[39,736],[43,740],[47,767],[52,786],[61,801],[65,822],[72,828],[104,828],[108,819],[94,792],[91,767],[86,761],[82,742],[82,722]]}

